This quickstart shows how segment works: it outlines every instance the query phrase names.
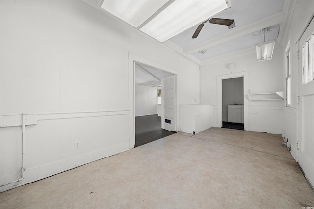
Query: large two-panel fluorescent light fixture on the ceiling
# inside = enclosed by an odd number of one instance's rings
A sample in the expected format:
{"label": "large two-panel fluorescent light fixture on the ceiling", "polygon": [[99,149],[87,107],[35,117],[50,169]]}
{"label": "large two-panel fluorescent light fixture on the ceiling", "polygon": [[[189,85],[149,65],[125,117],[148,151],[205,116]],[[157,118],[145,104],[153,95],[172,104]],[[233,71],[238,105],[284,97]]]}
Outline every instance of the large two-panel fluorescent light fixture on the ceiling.
{"label": "large two-panel fluorescent light fixture on the ceiling", "polygon": [[164,42],[228,5],[226,0],[104,0],[101,7]]}

